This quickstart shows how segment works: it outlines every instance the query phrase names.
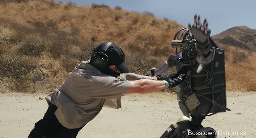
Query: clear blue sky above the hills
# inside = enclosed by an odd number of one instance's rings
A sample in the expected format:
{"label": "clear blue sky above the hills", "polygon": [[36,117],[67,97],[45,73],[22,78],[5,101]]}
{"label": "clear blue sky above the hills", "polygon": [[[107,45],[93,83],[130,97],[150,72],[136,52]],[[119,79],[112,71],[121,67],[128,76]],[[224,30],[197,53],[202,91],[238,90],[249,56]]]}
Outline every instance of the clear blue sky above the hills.
{"label": "clear blue sky above the hills", "polygon": [[256,0],[55,0],[74,2],[77,5],[105,3],[124,10],[149,11],[157,18],[167,17],[187,26],[193,23],[195,14],[207,18],[212,34],[218,34],[235,26],[256,29]]}

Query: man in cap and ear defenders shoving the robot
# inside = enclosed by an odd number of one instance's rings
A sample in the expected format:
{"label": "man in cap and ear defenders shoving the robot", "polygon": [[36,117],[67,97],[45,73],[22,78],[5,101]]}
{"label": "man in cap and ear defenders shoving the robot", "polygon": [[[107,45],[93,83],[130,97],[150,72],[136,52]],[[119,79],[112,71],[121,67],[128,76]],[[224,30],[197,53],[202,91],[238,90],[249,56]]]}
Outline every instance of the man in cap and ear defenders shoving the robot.
{"label": "man in cap and ear defenders shoving the robot", "polygon": [[100,44],[91,60],[77,65],[60,88],[46,97],[49,107],[28,138],[75,138],[103,106],[121,108],[123,94],[168,89],[186,78],[186,68],[156,77],[130,72],[119,46],[111,42]]}

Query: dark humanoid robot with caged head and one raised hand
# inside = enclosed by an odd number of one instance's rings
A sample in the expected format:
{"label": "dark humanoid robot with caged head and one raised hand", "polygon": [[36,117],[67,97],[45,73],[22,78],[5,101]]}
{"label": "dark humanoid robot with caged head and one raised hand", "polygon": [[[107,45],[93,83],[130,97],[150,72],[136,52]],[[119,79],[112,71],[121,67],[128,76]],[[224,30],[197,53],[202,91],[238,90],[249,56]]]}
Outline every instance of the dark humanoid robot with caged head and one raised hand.
{"label": "dark humanoid robot with caged head and one raised hand", "polygon": [[[230,111],[226,107],[224,50],[210,38],[206,19],[200,23],[195,15],[193,26],[177,31],[171,55],[159,68],[152,68],[148,76],[167,72],[172,67],[180,70],[187,66],[183,83],[177,86],[177,99],[184,116],[172,124],[160,138],[216,138],[213,128],[204,128],[205,116]],[[191,119],[189,117],[191,116]]]}

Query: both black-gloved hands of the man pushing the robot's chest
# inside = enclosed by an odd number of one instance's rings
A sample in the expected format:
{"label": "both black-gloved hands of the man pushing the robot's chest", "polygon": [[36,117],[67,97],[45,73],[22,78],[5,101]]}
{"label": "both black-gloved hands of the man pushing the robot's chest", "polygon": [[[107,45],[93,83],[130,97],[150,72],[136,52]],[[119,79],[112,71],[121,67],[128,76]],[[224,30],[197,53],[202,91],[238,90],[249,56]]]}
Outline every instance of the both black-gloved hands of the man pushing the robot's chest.
{"label": "both black-gloved hands of the man pushing the robot's chest", "polygon": [[185,80],[186,76],[187,76],[187,67],[183,66],[181,70],[179,70],[177,73],[170,74],[170,75],[166,75],[162,73],[160,75],[157,75],[156,78],[158,80],[166,80],[170,85],[169,88],[172,88],[181,84]]}

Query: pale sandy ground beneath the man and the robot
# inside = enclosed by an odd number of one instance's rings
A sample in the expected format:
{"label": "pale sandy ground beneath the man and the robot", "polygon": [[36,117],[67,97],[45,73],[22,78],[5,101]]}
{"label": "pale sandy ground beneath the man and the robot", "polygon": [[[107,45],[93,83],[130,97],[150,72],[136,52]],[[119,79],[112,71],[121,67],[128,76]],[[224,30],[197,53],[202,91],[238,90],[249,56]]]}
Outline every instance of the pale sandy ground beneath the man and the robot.
{"label": "pale sandy ground beneath the man and the robot", "polygon": [[[38,100],[46,95],[0,93],[0,138],[27,138],[47,109],[46,101]],[[255,138],[256,92],[228,92],[227,95],[231,112],[207,117],[203,126],[216,129],[218,138]],[[181,116],[176,95],[125,95],[121,109],[103,108],[77,138],[159,138]],[[232,135],[235,131],[246,135]]]}

